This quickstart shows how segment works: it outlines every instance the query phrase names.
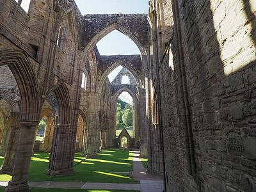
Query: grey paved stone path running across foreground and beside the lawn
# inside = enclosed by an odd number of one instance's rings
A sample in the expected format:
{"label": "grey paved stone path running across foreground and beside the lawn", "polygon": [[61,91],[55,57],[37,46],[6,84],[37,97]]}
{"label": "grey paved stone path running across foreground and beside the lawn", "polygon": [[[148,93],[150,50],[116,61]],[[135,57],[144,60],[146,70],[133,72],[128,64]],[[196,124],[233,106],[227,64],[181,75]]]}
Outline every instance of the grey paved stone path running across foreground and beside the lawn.
{"label": "grey paved stone path running across foreground and beside the lawn", "polygon": [[[29,181],[30,187],[36,188],[62,188],[62,189],[120,189],[137,190],[142,192],[161,192],[164,189],[164,183],[156,175],[150,175],[143,167],[138,150],[133,151],[133,173],[134,180],[140,180],[140,184],[118,184],[118,183],[100,183],[100,182],[53,182],[53,181]],[[7,181],[0,181],[0,186],[7,186]],[[71,190],[70,190],[71,191]]]}

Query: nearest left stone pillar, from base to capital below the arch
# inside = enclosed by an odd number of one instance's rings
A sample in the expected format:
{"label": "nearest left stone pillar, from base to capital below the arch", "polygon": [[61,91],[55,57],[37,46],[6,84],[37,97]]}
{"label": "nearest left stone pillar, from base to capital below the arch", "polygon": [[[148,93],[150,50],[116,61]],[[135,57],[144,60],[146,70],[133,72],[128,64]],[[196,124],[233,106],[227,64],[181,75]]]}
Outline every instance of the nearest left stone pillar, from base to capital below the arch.
{"label": "nearest left stone pillar, from base to capital below the arch", "polygon": [[17,152],[15,154],[12,180],[5,191],[29,191],[28,171],[33,150],[35,129],[38,121],[20,120],[20,134]]}

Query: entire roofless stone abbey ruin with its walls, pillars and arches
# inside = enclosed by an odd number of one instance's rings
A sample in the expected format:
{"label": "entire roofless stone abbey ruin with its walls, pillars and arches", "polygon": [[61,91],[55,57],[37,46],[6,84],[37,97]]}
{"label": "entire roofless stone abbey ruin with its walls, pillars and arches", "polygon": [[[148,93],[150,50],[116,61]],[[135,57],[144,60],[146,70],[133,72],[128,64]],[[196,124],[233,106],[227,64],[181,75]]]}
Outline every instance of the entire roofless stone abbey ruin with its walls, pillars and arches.
{"label": "entire roofless stone abbey ruin with its walls, pillars and arches", "polygon": [[[29,190],[34,151],[51,152],[45,174],[71,175],[76,150],[115,147],[122,92],[134,106],[127,145],[140,141],[165,191],[256,191],[255,0],[150,0],[148,14],[113,15],[81,15],[74,0],[31,0],[28,13],[22,0],[0,4],[5,191]],[[101,56],[113,30],[141,54]]]}

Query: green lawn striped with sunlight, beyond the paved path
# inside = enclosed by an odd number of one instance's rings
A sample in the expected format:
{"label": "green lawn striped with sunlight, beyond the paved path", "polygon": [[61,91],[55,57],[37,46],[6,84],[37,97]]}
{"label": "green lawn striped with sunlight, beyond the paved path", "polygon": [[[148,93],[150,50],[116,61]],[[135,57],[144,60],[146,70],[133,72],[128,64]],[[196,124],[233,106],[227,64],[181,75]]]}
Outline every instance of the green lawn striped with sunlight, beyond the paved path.
{"label": "green lawn striped with sunlight, beyond the paved path", "polygon": [[[76,153],[74,163],[83,159],[84,157],[81,157],[81,153]],[[3,159],[0,159],[0,161],[3,161]],[[70,176],[53,177],[46,175],[45,172],[48,165],[49,153],[35,153],[31,157],[28,180],[138,183],[129,174],[132,172],[132,152],[129,150],[102,150],[97,158],[86,159],[81,164],[74,166],[75,173]],[[0,175],[0,180],[11,179],[11,175]]]}

